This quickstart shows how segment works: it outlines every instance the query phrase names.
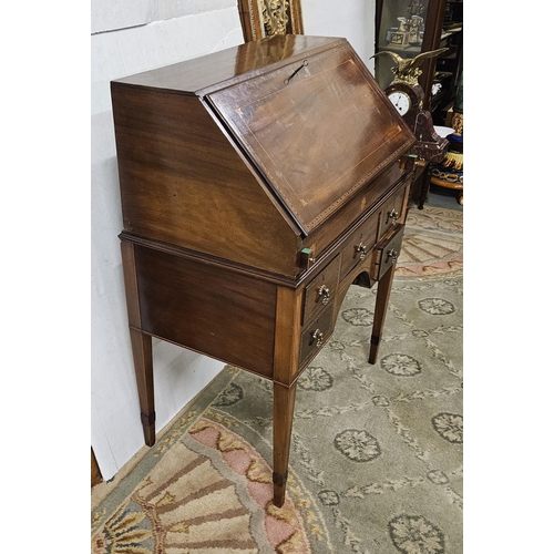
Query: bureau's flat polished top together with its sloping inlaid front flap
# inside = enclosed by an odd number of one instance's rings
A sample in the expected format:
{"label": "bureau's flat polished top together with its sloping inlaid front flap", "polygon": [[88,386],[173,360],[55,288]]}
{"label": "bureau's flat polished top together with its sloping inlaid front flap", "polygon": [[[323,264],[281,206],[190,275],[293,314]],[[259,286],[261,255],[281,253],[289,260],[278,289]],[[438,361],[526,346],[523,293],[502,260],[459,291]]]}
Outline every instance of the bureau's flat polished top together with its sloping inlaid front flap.
{"label": "bureau's flat polished top together with its sloping inlaid front flap", "polygon": [[202,99],[304,235],[414,142],[345,39],[274,37],[131,81]]}

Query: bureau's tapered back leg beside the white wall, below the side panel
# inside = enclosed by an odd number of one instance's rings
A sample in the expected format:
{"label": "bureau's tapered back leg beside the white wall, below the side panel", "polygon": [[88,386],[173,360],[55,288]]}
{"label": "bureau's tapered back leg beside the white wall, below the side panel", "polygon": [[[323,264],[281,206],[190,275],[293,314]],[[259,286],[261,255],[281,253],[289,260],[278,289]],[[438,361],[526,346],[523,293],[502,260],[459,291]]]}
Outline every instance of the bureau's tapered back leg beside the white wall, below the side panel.
{"label": "bureau's tapered back leg beside the white wall, below the side panel", "polygon": [[152,337],[138,329],[130,328],[136,386],[141,403],[141,421],[144,442],[152,447],[156,442],[156,412],[154,411],[154,373],[152,359]]}

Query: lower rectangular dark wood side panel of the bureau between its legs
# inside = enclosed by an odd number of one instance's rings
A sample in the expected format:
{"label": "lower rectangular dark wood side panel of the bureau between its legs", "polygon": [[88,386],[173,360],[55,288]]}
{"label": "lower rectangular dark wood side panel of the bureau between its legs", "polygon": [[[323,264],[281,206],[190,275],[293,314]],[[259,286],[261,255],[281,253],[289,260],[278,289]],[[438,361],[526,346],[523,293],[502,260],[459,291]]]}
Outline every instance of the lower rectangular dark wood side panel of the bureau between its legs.
{"label": "lower rectangular dark wood side panel of the bureau between its legs", "polygon": [[142,246],[135,260],[143,330],[271,376],[275,285]]}

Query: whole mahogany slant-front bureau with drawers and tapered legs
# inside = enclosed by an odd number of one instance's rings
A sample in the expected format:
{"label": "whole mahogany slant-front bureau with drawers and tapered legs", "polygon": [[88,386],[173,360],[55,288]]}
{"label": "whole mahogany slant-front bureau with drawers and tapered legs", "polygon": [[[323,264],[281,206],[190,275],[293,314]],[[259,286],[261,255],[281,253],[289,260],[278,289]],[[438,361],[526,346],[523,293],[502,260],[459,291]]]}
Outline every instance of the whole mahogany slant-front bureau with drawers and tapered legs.
{"label": "whole mahogany slant-front bureau with drawers and tapered legs", "polygon": [[352,283],[376,361],[416,138],[345,39],[248,42],[111,83],[141,418],[152,337],[274,383],[281,506],[295,392]]}

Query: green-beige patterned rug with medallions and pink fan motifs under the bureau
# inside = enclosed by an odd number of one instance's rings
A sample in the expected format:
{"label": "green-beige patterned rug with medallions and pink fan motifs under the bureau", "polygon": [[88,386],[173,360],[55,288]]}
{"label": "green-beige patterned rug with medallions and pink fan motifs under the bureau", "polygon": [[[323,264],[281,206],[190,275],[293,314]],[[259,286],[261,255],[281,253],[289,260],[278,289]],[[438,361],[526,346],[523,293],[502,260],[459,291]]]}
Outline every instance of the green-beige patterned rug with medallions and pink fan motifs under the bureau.
{"label": "green-beige patterned rug with medallions and pink fan motifs under the bureau", "polygon": [[298,383],[283,509],[271,383],[227,366],[132,471],[96,485],[91,552],[461,554],[462,216],[410,209],[375,366],[376,287],[350,288]]}

